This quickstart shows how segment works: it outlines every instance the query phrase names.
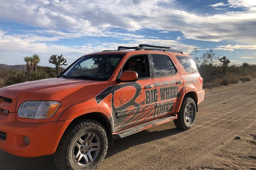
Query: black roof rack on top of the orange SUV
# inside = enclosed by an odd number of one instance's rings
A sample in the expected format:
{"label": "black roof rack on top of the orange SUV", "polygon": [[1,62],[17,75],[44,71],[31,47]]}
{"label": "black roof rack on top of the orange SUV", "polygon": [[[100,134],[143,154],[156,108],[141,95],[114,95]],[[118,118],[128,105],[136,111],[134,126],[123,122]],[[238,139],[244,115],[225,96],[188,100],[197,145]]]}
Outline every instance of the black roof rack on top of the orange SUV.
{"label": "black roof rack on top of the orange SUV", "polygon": [[163,47],[163,46],[147,45],[147,44],[139,44],[139,46],[137,47],[119,46],[117,50],[104,50],[104,51],[120,51],[120,50],[129,50],[129,49],[135,49],[136,51],[140,51],[140,50],[173,51],[173,52],[184,54],[182,51],[171,50],[171,47]]}

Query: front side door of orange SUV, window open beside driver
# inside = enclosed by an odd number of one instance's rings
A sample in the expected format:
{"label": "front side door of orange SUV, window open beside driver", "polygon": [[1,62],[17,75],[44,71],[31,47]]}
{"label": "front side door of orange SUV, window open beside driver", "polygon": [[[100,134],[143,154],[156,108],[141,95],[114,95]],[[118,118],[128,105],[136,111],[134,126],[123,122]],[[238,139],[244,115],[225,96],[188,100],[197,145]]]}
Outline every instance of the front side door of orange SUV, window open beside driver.
{"label": "front side door of orange SUV, window open beside driver", "polygon": [[127,70],[127,62],[131,58],[137,60],[132,71],[139,72],[140,77],[136,82],[117,83],[113,87],[115,131],[150,121],[156,107],[157,96],[152,91],[154,79],[148,54],[126,58],[119,76]]}

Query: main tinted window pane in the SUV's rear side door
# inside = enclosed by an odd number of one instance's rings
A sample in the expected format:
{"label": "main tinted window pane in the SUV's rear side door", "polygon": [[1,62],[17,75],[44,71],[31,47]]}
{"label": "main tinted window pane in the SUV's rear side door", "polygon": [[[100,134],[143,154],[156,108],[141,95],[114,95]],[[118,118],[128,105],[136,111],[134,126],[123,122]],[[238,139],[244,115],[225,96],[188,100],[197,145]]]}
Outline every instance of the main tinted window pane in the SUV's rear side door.
{"label": "main tinted window pane in the SUV's rear side door", "polygon": [[155,76],[171,75],[169,57],[166,55],[151,55]]}

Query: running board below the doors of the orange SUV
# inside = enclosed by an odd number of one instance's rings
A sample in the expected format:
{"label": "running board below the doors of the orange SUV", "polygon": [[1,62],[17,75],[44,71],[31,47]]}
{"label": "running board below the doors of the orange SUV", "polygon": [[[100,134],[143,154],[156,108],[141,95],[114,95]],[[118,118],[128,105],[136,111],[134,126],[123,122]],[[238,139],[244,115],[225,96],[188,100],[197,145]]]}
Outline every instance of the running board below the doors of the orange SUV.
{"label": "running board below the doors of the orange SUV", "polygon": [[150,127],[153,127],[155,125],[161,125],[163,123],[169,122],[169,121],[174,120],[174,119],[177,119],[177,114],[172,114],[169,117],[153,120],[151,122],[148,122],[148,123],[145,123],[145,124],[142,124],[142,125],[139,125],[139,126],[121,131],[121,132],[113,133],[113,139],[116,140],[116,139],[124,138],[126,136],[132,135],[132,134],[140,132],[142,130],[146,130],[146,129],[148,129]]}

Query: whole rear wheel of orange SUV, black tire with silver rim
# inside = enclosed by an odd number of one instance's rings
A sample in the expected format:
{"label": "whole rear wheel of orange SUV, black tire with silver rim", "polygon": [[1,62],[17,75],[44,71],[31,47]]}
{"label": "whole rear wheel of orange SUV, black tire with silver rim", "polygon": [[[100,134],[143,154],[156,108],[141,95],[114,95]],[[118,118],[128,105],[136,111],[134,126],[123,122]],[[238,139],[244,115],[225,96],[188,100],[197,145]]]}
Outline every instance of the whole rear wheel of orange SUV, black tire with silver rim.
{"label": "whole rear wheel of orange SUV, black tire with silver rim", "polygon": [[[191,107],[189,107],[191,106]],[[189,109],[188,111],[188,108]],[[190,129],[196,120],[196,103],[192,98],[184,98],[178,112],[178,119],[173,120],[174,125],[182,130]],[[189,122],[190,121],[190,122]]]}

